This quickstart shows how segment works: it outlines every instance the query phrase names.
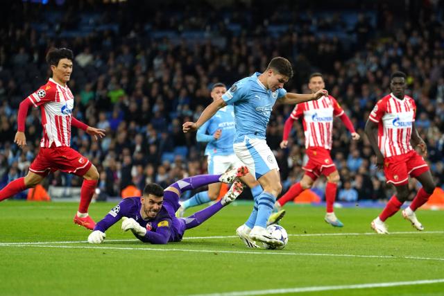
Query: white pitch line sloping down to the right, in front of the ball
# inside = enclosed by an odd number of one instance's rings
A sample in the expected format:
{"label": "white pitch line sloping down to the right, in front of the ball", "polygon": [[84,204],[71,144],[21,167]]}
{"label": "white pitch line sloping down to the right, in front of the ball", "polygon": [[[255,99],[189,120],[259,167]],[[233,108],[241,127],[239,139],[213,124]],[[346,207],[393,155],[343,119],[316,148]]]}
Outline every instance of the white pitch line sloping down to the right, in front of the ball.
{"label": "white pitch line sloping down to the right, in front of the ball", "polygon": [[0,247],[53,247],[60,249],[99,249],[99,250],[132,250],[132,251],[159,251],[159,252],[194,252],[194,253],[221,253],[221,254],[256,254],[256,255],[284,255],[284,256],[330,256],[330,257],[354,257],[374,259],[413,259],[427,261],[444,261],[444,258],[429,258],[415,256],[379,256],[379,255],[357,255],[357,254],[318,254],[318,253],[294,253],[294,252],[263,252],[263,251],[223,251],[223,250],[190,250],[190,249],[160,249],[154,247],[94,247],[90,245],[0,245]]}

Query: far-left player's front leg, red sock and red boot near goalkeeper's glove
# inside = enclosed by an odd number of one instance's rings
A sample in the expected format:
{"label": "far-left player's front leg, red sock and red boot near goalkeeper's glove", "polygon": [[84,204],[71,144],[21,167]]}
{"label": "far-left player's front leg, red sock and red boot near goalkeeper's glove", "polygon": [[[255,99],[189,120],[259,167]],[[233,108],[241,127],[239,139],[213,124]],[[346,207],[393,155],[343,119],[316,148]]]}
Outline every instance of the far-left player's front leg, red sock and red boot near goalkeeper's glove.
{"label": "far-left player's front leg, red sock and red boot near goalkeeper's glove", "polygon": [[[89,164],[91,163],[89,162]],[[83,183],[80,188],[80,204],[78,205],[77,214],[74,216],[74,223],[87,229],[94,229],[96,223],[89,217],[88,207],[91,203],[92,195],[94,195],[94,191],[96,190],[97,182],[99,181],[99,172],[96,166],[91,164],[82,177]]]}

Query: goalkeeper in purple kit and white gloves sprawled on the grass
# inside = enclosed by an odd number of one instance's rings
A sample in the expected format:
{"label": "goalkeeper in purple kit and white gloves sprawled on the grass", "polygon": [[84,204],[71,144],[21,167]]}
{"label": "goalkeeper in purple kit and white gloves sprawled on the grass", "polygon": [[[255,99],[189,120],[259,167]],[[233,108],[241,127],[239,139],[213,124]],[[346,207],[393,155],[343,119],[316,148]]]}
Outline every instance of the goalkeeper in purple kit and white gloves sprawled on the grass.
{"label": "goalkeeper in purple kit and white gloves sprawled on the grass", "polygon": [[[131,230],[144,243],[166,244],[181,241],[185,230],[202,224],[241,194],[244,184],[237,177],[247,173],[248,168],[241,166],[222,175],[196,175],[179,180],[165,190],[158,184],[148,184],[144,195],[125,198],[112,208],[89,234],[88,243],[102,243],[105,231],[121,219],[122,230]],[[234,183],[219,202],[187,218],[176,218],[182,192],[216,182]]]}

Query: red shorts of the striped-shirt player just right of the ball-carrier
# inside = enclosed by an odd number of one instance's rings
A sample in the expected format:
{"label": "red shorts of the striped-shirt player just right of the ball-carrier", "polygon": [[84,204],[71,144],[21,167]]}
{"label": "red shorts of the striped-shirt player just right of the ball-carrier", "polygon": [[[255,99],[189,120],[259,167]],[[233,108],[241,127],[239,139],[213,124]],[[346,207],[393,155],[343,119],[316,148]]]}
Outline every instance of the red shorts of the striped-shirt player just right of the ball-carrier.
{"label": "red shorts of the striped-shirt player just right of the ball-carrier", "polygon": [[305,171],[305,175],[316,180],[320,175],[330,175],[336,171],[336,165],[334,164],[332,157],[330,156],[330,150],[321,147],[307,148],[308,162],[302,169]]}

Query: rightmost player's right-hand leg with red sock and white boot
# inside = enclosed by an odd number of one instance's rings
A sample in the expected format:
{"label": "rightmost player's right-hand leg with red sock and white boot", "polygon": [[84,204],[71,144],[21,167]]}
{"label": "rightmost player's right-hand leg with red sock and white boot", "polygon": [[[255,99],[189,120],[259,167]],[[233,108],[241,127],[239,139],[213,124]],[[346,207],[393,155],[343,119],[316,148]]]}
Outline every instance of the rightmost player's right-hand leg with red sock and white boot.
{"label": "rightmost player's right-hand leg with red sock and white boot", "polygon": [[[424,171],[425,169],[427,169],[427,171],[422,173],[421,171]],[[421,171],[417,171],[418,172],[412,172],[412,176],[416,177],[416,180],[422,184],[422,187],[418,190],[418,193],[416,193],[416,196],[411,202],[410,206],[402,211],[402,216],[404,219],[409,220],[411,225],[416,229],[424,230],[424,227],[422,227],[422,224],[418,221],[418,218],[416,218],[415,211],[421,207],[422,204],[425,204],[427,200],[429,200],[429,197],[435,190],[436,185],[428,166],[423,167]],[[417,175],[418,173],[420,175]]]}

